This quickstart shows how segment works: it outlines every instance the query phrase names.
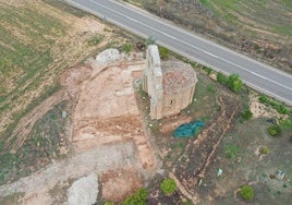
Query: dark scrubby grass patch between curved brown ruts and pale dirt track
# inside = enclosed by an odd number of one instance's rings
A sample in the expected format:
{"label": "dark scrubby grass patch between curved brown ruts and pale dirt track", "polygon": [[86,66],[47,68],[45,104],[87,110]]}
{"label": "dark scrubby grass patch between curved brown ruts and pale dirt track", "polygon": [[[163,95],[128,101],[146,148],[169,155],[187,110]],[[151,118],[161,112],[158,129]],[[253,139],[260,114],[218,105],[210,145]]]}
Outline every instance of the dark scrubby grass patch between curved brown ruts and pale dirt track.
{"label": "dark scrubby grass patch between curved brown ruts and pale dirt track", "polygon": [[70,152],[66,136],[71,118],[63,119],[60,110],[69,112],[70,104],[62,101],[39,119],[16,153],[1,154],[0,184],[25,177]]}

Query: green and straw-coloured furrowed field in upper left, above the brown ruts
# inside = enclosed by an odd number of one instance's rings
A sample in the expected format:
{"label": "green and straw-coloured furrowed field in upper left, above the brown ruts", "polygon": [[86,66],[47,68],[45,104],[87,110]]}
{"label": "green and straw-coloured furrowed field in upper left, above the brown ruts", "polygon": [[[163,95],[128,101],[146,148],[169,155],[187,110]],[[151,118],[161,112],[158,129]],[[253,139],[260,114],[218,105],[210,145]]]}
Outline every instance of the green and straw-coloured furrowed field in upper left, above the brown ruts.
{"label": "green and straw-coloured furrowed field in upper left, above the brown ruts", "polygon": [[78,25],[83,12],[49,3],[0,1],[0,152],[20,119],[60,89],[60,74],[100,47]]}

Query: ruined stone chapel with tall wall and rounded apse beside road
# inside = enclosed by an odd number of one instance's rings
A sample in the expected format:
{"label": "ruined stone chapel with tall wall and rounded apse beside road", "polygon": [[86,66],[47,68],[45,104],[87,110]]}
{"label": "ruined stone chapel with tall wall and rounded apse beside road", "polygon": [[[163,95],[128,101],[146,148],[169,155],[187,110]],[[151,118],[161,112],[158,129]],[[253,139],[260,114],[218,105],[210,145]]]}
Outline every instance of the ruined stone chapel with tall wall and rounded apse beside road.
{"label": "ruined stone chapel with tall wall and rounded apse beside road", "polygon": [[150,118],[161,119],[186,108],[197,83],[193,68],[181,61],[161,62],[156,45],[147,47],[146,60],[143,89],[150,97]]}

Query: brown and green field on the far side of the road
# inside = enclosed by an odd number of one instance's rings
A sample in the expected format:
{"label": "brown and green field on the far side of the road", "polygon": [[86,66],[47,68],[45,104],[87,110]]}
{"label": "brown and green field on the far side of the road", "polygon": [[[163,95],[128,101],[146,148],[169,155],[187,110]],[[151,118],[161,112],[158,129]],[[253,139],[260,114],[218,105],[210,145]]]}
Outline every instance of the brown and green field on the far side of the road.
{"label": "brown and green field on the far side of the road", "polygon": [[288,0],[126,0],[233,50],[292,73]]}

